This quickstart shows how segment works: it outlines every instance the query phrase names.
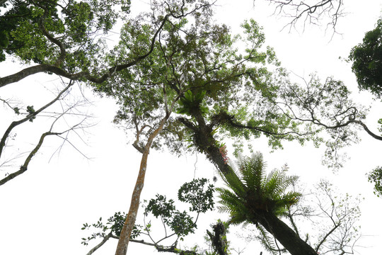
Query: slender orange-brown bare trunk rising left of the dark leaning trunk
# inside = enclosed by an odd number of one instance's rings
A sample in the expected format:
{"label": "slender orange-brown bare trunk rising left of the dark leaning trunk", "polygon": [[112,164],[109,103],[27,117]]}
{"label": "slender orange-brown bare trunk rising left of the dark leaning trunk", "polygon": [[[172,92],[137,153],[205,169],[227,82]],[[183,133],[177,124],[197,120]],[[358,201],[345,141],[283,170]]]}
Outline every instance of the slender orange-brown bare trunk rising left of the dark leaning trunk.
{"label": "slender orange-brown bare trunk rising left of the dark leaning trunk", "polygon": [[149,157],[150,147],[154,141],[154,138],[163,130],[163,126],[168,120],[168,115],[161,120],[159,127],[149,135],[149,139],[146,142],[144,151],[141,158],[141,166],[139,166],[139,174],[137,177],[137,182],[135,183],[134,191],[132,193],[132,200],[130,203],[129,213],[127,213],[125,225],[122,227],[120,234],[120,239],[118,240],[117,250],[115,255],[126,255],[127,246],[129,245],[130,235],[132,234],[132,229],[137,220],[137,213],[139,209],[139,200],[141,197],[141,191],[144,187],[144,176],[146,174],[147,158]]}

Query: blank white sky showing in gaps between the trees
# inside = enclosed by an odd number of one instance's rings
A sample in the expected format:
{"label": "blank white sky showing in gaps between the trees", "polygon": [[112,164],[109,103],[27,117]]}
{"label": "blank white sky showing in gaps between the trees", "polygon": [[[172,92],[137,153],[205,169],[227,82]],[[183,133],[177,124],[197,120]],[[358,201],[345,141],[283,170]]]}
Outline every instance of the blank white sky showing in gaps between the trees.
{"label": "blank white sky showing in gaps between the trees", "polygon": [[[144,1],[132,1],[132,15],[146,8],[148,5]],[[376,120],[382,116],[382,105],[372,101],[370,94],[358,91],[351,64],[339,57],[346,58],[351,48],[361,42],[364,33],[374,28],[381,10],[381,1],[345,1],[347,15],[337,25],[337,31],[342,34],[334,36],[330,30],[325,33],[325,28],[318,26],[307,26],[305,30],[300,27],[290,32],[282,30],[289,20],[272,16],[274,6],[268,6],[261,0],[256,0],[255,5],[248,0],[219,0],[216,2],[216,21],[227,23],[235,33],[239,33],[239,24],[244,18],[254,18],[263,26],[266,44],[274,47],[282,66],[300,77],[317,72],[322,79],[333,76],[344,81],[353,91],[355,101],[371,106],[366,124],[376,131]],[[0,76],[21,68],[15,62],[2,62]],[[1,98],[15,98],[25,105],[37,106],[52,98],[57,86],[60,86],[57,77],[35,75],[1,88],[0,95]],[[89,246],[81,245],[81,237],[88,234],[81,230],[82,224],[96,222],[99,217],[106,219],[117,211],[128,210],[140,154],[131,146],[131,134],[112,124],[117,110],[115,103],[108,98],[93,96],[88,89],[80,92],[78,87],[71,91],[73,100],[81,98],[76,96],[81,93],[93,102],[86,106],[86,111],[93,114],[94,118],[88,120],[91,125],[89,128],[84,132],[79,131],[79,137],[86,145],[75,135],[71,141],[89,159],[68,143],[53,154],[62,140],[50,137],[25,174],[0,186],[0,254],[86,254],[99,241]],[[3,133],[13,120],[13,115],[0,107],[0,132]],[[93,126],[93,123],[96,125]],[[15,152],[26,151],[37,140],[40,128],[47,128],[47,124],[47,120],[42,118],[16,130],[15,145],[11,149]],[[253,145],[255,150],[264,154],[268,169],[280,168],[287,163],[290,173],[301,176],[301,181],[307,183],[307,186],[326,178],[338,186],[342,193],[354,196],[361,194],[364,197],[360,219],[362,236],[357,243],[359,246],[355,249],[356,254],[381,254],[382,200],[374,196],[372,185],[365,176],[375,166],[382,165],[378,149],[381,145],[365,132],[359,132],[359,136],[361,142],[346,149],[350,159],[344,169],[336,173],[320,164],[323,148],[316,149],[311,145],[300,147],[291,142],[283,150],[270,153],[264,140],[255,140]],[[231,151],[228,147],[229,153]],[[187,154],[177,158],[166,152],[152,151],[141,198],[150,199],[156,193],[176,198],[179,186],[190,181],[194,175],[212,179],[216,172],[202,154]],[[221,185],[221,182],[218,181],[216,185]],[[204,246],[202,236],[205,229],[219,217],[224,219],[227,216],[216,212],[202,216],[198,232],[186,239],[187,245]],[[139,217],[137,222],[141,220]],[[228,236],[233,247],[245,249],[243,254],[260,254],[260,251],[264,251],[255,242],[247,244],[238,239],[238,232],[243,232],[243,229],[231,229]],[[96,254],[112,254],[116,244],[112,240],[96,251]],[[128,253],[156,254],[156,251],[141,244],[130,244]]]}

